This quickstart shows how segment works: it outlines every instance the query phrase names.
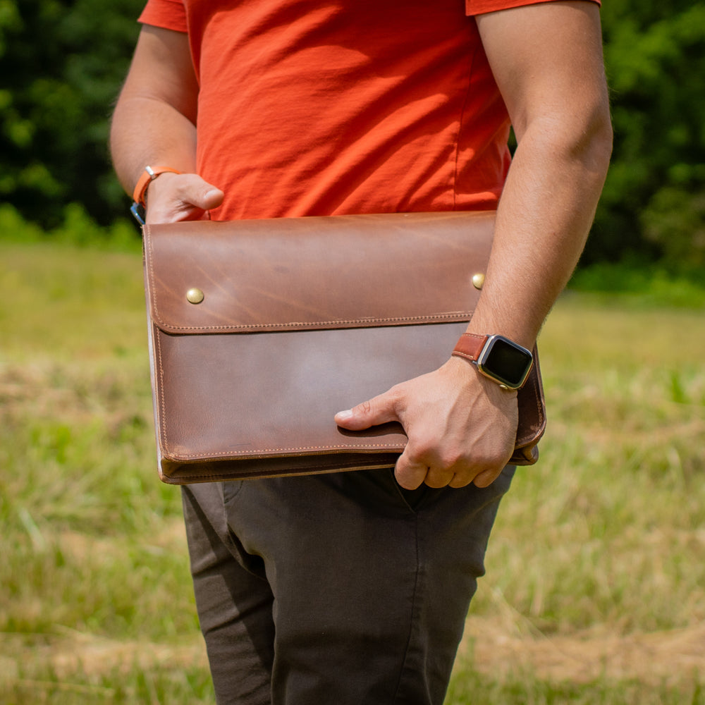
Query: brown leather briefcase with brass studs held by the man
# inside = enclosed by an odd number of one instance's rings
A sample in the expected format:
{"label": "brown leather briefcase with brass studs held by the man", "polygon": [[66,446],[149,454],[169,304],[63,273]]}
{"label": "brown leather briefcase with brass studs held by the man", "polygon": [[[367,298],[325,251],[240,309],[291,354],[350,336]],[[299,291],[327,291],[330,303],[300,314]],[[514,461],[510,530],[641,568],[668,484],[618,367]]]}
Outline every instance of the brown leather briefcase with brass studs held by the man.
{"label": "brown leather briefcase with brass studs held by the man", "polygon": [[[161,479],[392,467],[400,424],[353,432],[333,415],[448,360],[493,229],[486,212],[145,226]],[[519,407],[512,462],[529,465],[538,358]]]}

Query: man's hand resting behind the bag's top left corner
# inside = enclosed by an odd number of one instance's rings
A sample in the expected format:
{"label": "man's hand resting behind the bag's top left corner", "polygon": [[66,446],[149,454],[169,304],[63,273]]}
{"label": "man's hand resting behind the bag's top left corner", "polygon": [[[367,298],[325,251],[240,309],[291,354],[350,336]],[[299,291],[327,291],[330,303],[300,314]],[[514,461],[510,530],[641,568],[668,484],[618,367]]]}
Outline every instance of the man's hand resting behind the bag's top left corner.
{"label": "man's hand resting behind the bag's top left corner", "polygon": [[201,220],[223,202],[223,192],[198,174],[159,174],[147,190],[147,223]]}

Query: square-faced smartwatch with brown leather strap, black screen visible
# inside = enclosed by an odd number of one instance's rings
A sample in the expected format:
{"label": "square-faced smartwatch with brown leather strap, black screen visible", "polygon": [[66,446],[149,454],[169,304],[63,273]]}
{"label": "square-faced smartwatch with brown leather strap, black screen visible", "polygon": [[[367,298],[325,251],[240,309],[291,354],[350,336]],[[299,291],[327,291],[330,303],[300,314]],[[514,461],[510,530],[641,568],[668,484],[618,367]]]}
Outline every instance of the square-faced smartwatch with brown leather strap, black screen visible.
{"label": "square-faced smartwatch with brown leather strap, black screen visible", "polygon": [[534,363],[531,350],[509,338],[474,333],[460,336],[453,355],[470,360],[484,376],[508,389],[519,389]]}

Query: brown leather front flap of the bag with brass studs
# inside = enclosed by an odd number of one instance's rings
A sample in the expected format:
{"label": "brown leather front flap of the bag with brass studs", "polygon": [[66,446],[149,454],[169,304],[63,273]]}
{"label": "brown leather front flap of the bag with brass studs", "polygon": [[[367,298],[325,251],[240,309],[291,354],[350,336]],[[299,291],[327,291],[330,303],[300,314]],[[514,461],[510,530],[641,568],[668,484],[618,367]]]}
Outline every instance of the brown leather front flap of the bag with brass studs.
{"label": "brown leather front flap of the bag with brass studs", "polygon": [[149,313],[167,333],[467,321],[493,231],[494,212],[145,226]]}

